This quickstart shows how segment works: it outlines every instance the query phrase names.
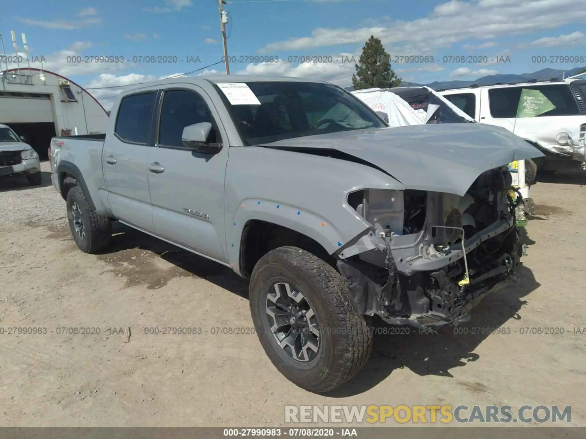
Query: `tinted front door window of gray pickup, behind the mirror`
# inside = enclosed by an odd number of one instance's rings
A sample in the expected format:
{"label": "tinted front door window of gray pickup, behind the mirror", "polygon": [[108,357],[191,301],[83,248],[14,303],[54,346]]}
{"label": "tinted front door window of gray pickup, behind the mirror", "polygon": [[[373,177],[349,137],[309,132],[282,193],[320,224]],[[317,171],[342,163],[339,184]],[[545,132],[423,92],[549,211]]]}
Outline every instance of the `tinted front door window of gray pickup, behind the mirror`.
{"label": "tinted front door window of gray pickup, behind the mirror", "polygon": [[159,121],[159,139],[161,146],[184,148],[181,140],[183,128],[200,122],[210,122],[212,131],[208,143],[221,143],[216,121],[207,107],[206,101],[196,92],[189,90],[168,90],[163,96],[161,120]]}

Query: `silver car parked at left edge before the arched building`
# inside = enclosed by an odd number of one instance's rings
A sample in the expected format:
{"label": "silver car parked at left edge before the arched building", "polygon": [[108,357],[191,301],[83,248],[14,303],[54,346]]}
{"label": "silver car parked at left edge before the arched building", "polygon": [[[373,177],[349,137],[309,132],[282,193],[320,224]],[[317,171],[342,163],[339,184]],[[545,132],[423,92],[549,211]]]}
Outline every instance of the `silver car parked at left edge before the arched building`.
{"label": "silver car parked at left edge before the arched building", "polygon": [[19,174],[30,186],[41,184],[39,155],[9,126],[0,124],[0,177]]}

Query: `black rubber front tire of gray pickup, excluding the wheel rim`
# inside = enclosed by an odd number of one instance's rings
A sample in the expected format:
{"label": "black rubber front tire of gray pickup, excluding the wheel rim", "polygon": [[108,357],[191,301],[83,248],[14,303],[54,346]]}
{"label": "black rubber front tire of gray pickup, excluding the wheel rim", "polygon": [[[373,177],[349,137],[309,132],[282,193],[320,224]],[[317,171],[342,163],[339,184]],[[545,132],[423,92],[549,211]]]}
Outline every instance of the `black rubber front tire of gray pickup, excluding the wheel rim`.
{"label": "black rubber front tire of gray pickup, excluding the wheel rim", "polygon": [[[267,294],[277,282],[294,284],[311,301],[319,321],[318,354],[299,362],[282,349],[266,317]],[[283,246],[265,254],[250,279],[250,311],[258,339],[285,378],[309,392],[336,389],[359,373],[372,351],[373,334],[349,298],[346,281],[312,253]]]}

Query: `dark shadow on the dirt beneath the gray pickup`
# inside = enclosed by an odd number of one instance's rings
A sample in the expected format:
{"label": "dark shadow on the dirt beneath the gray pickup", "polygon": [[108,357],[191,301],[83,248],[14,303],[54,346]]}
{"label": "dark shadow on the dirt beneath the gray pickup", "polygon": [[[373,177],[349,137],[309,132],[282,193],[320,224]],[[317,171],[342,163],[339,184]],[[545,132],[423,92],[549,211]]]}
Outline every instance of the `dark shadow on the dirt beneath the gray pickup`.
{"label": "dark shadow on the dirt beneath the gray pickup", "polygon": [[[522,240],[534,243],[526,231]],[[193,255],[176,246],[114,223],[113,247],[98,256],[111,258],[115,253],[135,250],[142,255],[154,253],[176,267],[208,280],[241,297],[247,297],[247,282],[231,269],[211,260]],[[136,254],[134,254],[136,256]],[[507,334],[491,334],[493,328],[506,328],[510,319],[520,320],[520,311],[526,301],[523,297],[539,287],[532,271],[522,266],[517,274],[520,282],[509,281],[506,287],[489,293],[472,310],[472,320],[458,328],[446,326],[439,332],[425,333],[417,328],[393,327],[379,319],[374,329],[374,348],[369,362],[355,379],[327,394],[330,397],[347,397],[366,392],[386,379],[395,369],[408,368],[417,375],[452,377],[450,369],[464,367],[469,362],[479,361],[474,351],[487,337],[507,337]],[[481,328],[481,330],[478,330]],[[462,333],[466,331],[465,333]],[[475,391],[483,392],[482,385]]]}

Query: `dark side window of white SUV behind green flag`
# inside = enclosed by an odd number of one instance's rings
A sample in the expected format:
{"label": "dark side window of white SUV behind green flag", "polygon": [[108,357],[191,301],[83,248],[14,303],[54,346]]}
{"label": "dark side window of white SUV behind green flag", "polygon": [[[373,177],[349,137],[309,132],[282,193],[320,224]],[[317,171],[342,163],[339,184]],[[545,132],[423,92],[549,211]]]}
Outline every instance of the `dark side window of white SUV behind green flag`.
{"label": "dark side window of white SUV behind green flag", "polygon": [[539,90],[556,108],[536,117],[574,116],[580,114],[578,102],[568,84],[530,85],[524,87],[492,88],[488,91],[490,115],[493,118],[515,118],[523,88]]}

